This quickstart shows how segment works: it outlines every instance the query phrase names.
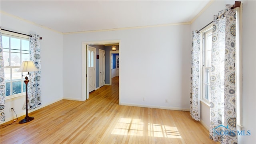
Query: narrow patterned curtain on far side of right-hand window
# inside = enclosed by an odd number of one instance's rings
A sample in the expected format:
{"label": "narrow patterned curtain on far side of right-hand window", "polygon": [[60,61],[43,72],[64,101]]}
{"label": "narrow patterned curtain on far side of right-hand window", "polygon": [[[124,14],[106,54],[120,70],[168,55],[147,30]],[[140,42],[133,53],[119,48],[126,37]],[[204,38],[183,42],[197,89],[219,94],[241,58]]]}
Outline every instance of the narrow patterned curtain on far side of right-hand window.
{"label": "narrow patterned curtain on far side of right-hand window", "polygon": [[200,60],[200,32],[192,32],[192,59],[191,59],[191,86],[190,86],[190,115],[195,120],[200,120],[199,88],[199,60]]}

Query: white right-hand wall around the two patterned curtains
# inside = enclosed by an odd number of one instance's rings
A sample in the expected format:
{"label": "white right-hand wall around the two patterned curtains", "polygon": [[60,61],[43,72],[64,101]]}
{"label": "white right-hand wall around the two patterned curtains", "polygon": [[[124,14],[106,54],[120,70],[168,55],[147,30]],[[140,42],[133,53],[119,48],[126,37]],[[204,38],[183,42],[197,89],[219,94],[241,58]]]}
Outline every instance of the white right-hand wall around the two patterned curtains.
{"label": "white right-hand wall around the two patterned curtains", "polygon": [[[191,25],[191,31],[199,30],[212,21],[213,15],[225,8],[225,4],[234,4],[234,1],[214,1],[214,3],[201,14]],[[242,28],[242,130],[250,130],[250,136],[238,136],[238,142],[242,144],[255,144],[256,133],[256,107],[255,107],[255,88],[256,88],[256,1],[242,1],[243,4],[243,28]],[[208,127],[210,107],[201,104],[202,123]]]}

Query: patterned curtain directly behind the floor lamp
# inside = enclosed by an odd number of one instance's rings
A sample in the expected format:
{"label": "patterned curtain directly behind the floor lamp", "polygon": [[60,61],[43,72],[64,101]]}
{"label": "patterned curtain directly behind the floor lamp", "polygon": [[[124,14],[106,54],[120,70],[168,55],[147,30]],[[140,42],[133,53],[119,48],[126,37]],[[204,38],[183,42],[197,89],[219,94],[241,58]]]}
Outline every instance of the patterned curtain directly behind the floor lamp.
{"label": "patterned curtain directly behind the floor lamp", "polygon": [[29,39],[30,60],[34,62],[37,72],[29,72],[28,83],[28,109],[34,109],[41,106],[41,55],[39,36],[32,34]]}

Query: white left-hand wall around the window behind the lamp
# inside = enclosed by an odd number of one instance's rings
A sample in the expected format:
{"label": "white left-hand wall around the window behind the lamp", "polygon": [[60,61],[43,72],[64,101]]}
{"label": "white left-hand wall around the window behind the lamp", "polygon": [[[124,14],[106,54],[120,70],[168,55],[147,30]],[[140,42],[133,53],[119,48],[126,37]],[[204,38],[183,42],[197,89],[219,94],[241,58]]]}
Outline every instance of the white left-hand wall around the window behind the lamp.
{"label": "white left-hand wall around the window behind the lamp", "polygon": [[[52,104],[62,99],[63,86],[62,86],[62,34],[46,30],[34,24],[18,20],[12,16],[7,16],[1,13],[1,28],[12,30],[24,34],[38,34],[43,39],[40,40],[41,45],[41,100],[42,106]],[[13,112],[9,112],[12,106],[18,116],[26,114],[22,110],[25,104],[25,96],[15,100],[6,100],[5,115],[6,122],[16,118]],[[28,111],[30,112],[30,111]],[[15,117],[14,117],[15,116]],[[36,118],[35,118],[36,119]]]}

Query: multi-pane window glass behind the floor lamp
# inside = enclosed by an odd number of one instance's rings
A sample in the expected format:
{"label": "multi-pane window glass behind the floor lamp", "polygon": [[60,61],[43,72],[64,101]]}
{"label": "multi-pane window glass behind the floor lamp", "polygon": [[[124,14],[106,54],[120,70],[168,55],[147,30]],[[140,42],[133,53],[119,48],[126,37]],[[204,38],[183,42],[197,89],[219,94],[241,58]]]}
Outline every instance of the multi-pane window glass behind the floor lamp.
{"label": "multi-pane window glass behind the floor lamp", "polygon": [[[7,33],[7,32],[6,32]],[[24,95],[26,86],[22,73],[17,72],[23,61],[29,60],[28,37],[2,32],[4,54],[4,77],[6,82],[6,96],[15,97]],[[24,73],[25,74],[25,73]]]}

